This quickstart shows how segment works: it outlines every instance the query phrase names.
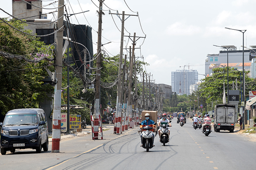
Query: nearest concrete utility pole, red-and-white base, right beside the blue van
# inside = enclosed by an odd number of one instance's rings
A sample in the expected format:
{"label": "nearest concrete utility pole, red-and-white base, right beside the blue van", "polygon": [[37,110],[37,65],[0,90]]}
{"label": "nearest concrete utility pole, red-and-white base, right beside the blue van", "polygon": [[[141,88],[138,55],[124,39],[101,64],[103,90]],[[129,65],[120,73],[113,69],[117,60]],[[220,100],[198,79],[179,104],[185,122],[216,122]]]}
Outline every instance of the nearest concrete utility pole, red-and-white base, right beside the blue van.
{"label": "nearest concrete utility pole, red-and-white base, right beside the blue van", "polygon": [[[64,23],[64,0],[59,0],[59,10],[57,21],[57,29],[61,28]],[[57,83],[54,87],[54,112],[52,115],[52,152],[60,152],[60,139],[61,139],[61,83],[62,83],[62,49],[63,49],[63,29],[57,32],[56,40],[56,66],[55,77]]]}

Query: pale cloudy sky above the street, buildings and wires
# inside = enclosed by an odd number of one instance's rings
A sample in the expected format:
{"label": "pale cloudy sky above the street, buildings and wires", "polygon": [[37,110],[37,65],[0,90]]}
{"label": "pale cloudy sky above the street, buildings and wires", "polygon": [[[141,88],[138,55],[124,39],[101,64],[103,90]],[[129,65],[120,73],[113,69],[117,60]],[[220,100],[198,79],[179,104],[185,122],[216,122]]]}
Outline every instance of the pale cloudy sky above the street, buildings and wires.
{"label": "pale cloudy sky above the street, buildings and wires", "polygon": [[[51,2],[54,1],[43,1],[43,5]],[[69,14],[90,10],[71,16],[71,22],[92,27],[93,53],[96,53],[99,1],[64,2]],[[137,15],[138,12],[139,17],[125,17],[124,46],[132,46],[132,37],[129,40],[127,36],[133,36],[136,32],[136,36],[141,38],[136,41],[135,56],[149,64],[145,70],[152,75],[150,80],[171,85],[171,71],[188,69],[184,65],[190,65],[190,69],[204,74],[207,54],[218,54],[221,50],[213,45],[234,45],[242,49],[242,33],[225,27],[247,30],[244,45],[256,45],[255,7],[256,0],[105,0],[102,7],[105,14],[102,18],[102,44],[105,44],[104,49],[109,56],[120,53],[121,20],[117,15],[109,14],[109,10],[111,13],[118,11],[119,14],[125,11],[130,15]],[[12,14],[12,1],[1,3],[0,8]],[[43,9],[43,13],[51,11],[54,10]],[[0,17],[8,15],[0,10]],[[53,14],[47,17],[54,19]],[[124,51],[124,54],[128,53]],[[204,76],[199,75],[201,78]]]}

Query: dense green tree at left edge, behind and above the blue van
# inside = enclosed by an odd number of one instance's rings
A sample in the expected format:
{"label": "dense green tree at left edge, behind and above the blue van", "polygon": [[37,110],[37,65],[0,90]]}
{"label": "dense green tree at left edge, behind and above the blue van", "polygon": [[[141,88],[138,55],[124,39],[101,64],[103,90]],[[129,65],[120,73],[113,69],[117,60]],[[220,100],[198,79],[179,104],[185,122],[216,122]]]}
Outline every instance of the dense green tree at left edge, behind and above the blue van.
{"label": "dense green tree at left edge, behind and above the blue van", "polygon": [[[26,25],[20,21],[10,21],[9,24],[23,30]],[[50,62],[42,60],[39,63],[27,62],[52,56],[49,47],[44,46],[39,38],[23,34],[4,22],[0,23],[0,51],[16,55],[16,58],[0,57],[0,110],[5,114],[11,109],[38,107],[39,102],[47,98],[47,93],[52,92],[50,84],[43,83],[47,72],[43,67],[50,66]],[[47,50],[46,50],[47,49]],[[40,56],[39,56],[40,54]]]}

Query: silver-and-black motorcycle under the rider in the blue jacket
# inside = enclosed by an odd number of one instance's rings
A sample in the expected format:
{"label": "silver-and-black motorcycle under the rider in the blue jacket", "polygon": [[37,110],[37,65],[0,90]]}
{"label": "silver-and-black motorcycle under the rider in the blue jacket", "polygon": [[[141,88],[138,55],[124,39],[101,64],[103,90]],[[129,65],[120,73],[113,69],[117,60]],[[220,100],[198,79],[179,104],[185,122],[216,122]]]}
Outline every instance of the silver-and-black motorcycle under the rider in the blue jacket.
{"label": "silver-and-black motorcycle under the rider in the blue jacket", "polygon": [[[141,125],[141,123],[138,124]],[[154,125],[156,125],[156,123]],[[149,151],[149,149],[153,148],[154,136],[153,132],[150,131],[151,129],[153,129],[153,127],[151,126],[144,126],[142,128],[142,148],[146,149],[147,152]],[[138,133],[140,133],[140,131],[138,131]]]}

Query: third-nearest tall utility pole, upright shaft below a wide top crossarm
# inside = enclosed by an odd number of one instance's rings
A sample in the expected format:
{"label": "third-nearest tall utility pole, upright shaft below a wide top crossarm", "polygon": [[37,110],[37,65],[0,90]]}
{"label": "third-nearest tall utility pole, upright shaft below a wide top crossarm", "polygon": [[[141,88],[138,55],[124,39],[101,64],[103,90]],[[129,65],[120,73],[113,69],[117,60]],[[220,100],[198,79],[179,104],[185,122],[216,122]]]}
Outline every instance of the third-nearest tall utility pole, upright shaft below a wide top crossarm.
{"label": "third-nearest tall utility pole, upright shaft below a wide top crossarm", "polygon": [[[120,133],[121,127],[121,76],[122,76],[122,63],[123,63],[123,44],[124,44],[124,28],[125,28],[125,11],[122,14],[122,28],[121,28],[121,45],[120,45],[120,58],[119,58],[119,70],[118,70],[118,87],[117,87],[117,97],[116,97],[116,121],[115,128],[116,134]],[[115,129],[114,129],[115,132]]]}

